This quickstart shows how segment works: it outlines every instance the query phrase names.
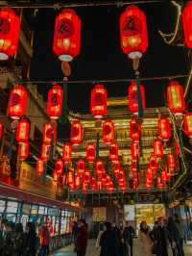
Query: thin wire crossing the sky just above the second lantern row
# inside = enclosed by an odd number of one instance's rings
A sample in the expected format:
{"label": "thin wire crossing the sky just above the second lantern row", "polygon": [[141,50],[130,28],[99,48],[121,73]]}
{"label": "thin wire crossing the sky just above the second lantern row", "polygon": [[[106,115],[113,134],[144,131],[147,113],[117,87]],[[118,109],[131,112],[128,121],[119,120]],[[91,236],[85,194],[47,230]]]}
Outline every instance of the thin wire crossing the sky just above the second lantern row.
{"label": "thin wire crossing the sky just above the second lantern row", "polygon": [[[140,81],[158,81],[158,80],[172,80],[180,78],[188,78],[189,74],[155,76],[155,77],[141,77]],[[95,79],[95,80],[70,80],[67,84],[97,84],[97,83],[126,83],[132,82],[134,78],[118,78],[118,79]],[[5,82],[5,80],[0,80]],[[13,84],[63,84],[63,80],[12,80]]]}

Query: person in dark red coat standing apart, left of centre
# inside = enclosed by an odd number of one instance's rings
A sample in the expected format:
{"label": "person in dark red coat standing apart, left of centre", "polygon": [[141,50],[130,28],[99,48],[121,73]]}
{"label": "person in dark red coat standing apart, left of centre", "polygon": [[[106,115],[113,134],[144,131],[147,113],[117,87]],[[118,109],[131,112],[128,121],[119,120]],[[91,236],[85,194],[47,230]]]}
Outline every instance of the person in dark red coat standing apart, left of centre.
{"label": "person in dark red coat standing apart, left of centre", "polygon": [[87,224],[84,219],[80,219],[79,232],[77,234],[77,256],[84,256],[88,241]]}

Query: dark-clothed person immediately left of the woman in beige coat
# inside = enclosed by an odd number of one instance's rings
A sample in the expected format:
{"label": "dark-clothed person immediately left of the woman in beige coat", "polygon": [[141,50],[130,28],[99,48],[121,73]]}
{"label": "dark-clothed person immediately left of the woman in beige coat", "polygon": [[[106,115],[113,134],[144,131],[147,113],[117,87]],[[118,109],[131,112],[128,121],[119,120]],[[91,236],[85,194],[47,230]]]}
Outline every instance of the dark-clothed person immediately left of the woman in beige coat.
{"label": "dark-clothed person immediately left of the woman in beige coat", "polygon": [[129,222],[126,221],[126,225],[125,225],[125,228],[123,230],[123,238],[124,238],[124,241],[125,243],[128,243],[128,248],[130,248],[130,253],[129,255],[133,255],[132,254],[132,248],[133,248],[133,238],[135,236],[135,231],[132,227],[132,225],[129,225]]}

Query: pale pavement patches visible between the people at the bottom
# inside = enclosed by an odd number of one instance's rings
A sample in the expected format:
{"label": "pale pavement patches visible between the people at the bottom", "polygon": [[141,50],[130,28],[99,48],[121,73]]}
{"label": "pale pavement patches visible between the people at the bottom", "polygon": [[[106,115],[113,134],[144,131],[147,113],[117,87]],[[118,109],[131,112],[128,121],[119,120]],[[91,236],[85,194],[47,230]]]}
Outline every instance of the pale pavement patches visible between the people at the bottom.
{"label": "pale pavement patches visible between the people at the bottom", "polygon": [[[140,256],[137,252],[138,243],[135,241],[134,243],[134,256]],[[53,256],[76,256],[77,254],[73,252],[74,245],[67,246],[65,248],[60,249],[58,252],[55,252]],[[191,256],[192,255],[192,246],[185,246],[185,256]],[[172,253],[169,253],[170,256],[172,256]],[[89,240],[88,242],[88,248],[86,252],[86,256],[98,256],[98,251],[95,249],[95,241]]]}

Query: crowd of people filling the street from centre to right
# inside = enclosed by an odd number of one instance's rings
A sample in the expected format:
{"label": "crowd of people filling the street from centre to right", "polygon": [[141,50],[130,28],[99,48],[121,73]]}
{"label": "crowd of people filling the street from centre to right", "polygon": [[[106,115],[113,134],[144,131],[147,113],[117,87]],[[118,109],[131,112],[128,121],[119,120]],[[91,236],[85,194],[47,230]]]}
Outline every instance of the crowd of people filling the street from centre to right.
{"label": "crowd of people filling the street from centre to right", "polygon": [[[96,240],[98,256],[133,256],[133,242],[137,234],[132,224],[100,223]],[[77,256],[84,256],[88,240],[88,226],[84,219],[74,224],[73,238]],[[184,226],[176,214],[168,219],[158,218],[153,228],[146,221],[140,223],[137,238],[139,256],[184,256]]]}

